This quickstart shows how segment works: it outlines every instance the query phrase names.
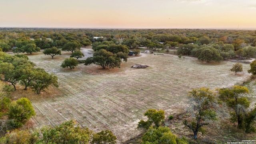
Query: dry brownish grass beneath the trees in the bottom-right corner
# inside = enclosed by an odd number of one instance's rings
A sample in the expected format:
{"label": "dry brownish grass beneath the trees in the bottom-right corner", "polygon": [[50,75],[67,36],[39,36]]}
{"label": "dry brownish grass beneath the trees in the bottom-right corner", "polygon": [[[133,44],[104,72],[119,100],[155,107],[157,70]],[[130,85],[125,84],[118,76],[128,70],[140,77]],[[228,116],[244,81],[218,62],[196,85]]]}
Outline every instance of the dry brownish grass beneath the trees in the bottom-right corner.
{"label": "dry brownish grass beneath the trees in the bottom-right corner", "polygon": [[195,144],[224,144],[227,142],[242,142],[242,140],[253,140],[256,134],[247,134],[237,128],[236,123],[231,123],[228,118],[221,120],[218,125],[210,124],[205,126],[206,133],[198,133],[198,140],[193,139],[192,130],[188,129],[182,121],[187,118],[186,113],[180,113],[174,116],[172,120],[166,120],[171,132],[178,137],[185,136],[189,143]]}

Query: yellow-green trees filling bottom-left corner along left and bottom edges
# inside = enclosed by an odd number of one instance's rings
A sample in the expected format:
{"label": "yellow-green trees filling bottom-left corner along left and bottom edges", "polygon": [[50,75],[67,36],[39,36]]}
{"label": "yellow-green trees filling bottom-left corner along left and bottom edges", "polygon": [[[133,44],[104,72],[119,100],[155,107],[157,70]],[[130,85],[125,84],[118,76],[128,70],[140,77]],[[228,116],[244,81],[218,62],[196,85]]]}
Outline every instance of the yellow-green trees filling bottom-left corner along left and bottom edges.
{"label": "yellow-green trees filling bottom-left corner along left and bottom edges", "polygon": [[0,144],[116,144],[117,138],[110,130],[94,133],[80,127],[76,120],[35,131],[22,128],[36,113],[27,98],[12,101],[11,91],[10,86],[1,84]]}

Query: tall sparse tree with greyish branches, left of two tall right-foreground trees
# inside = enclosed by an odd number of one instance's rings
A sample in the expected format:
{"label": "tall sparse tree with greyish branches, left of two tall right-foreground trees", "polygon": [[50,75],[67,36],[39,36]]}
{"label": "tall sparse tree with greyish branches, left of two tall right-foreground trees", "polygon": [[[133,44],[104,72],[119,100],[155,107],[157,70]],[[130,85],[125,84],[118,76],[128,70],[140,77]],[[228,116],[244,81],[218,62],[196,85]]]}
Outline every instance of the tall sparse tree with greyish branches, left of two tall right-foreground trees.
{"label": "tall sparse tree with greyish branches, left of two tall right-foreground trees", "polygon": [[217,120],[216,109],[219,108],[216,94],[209,88],[194,89],[189,92],[190,113],[192,118],[184,120],[183,124],[194,133],[197,139],[198,132],[203,132],[203,126]]}

